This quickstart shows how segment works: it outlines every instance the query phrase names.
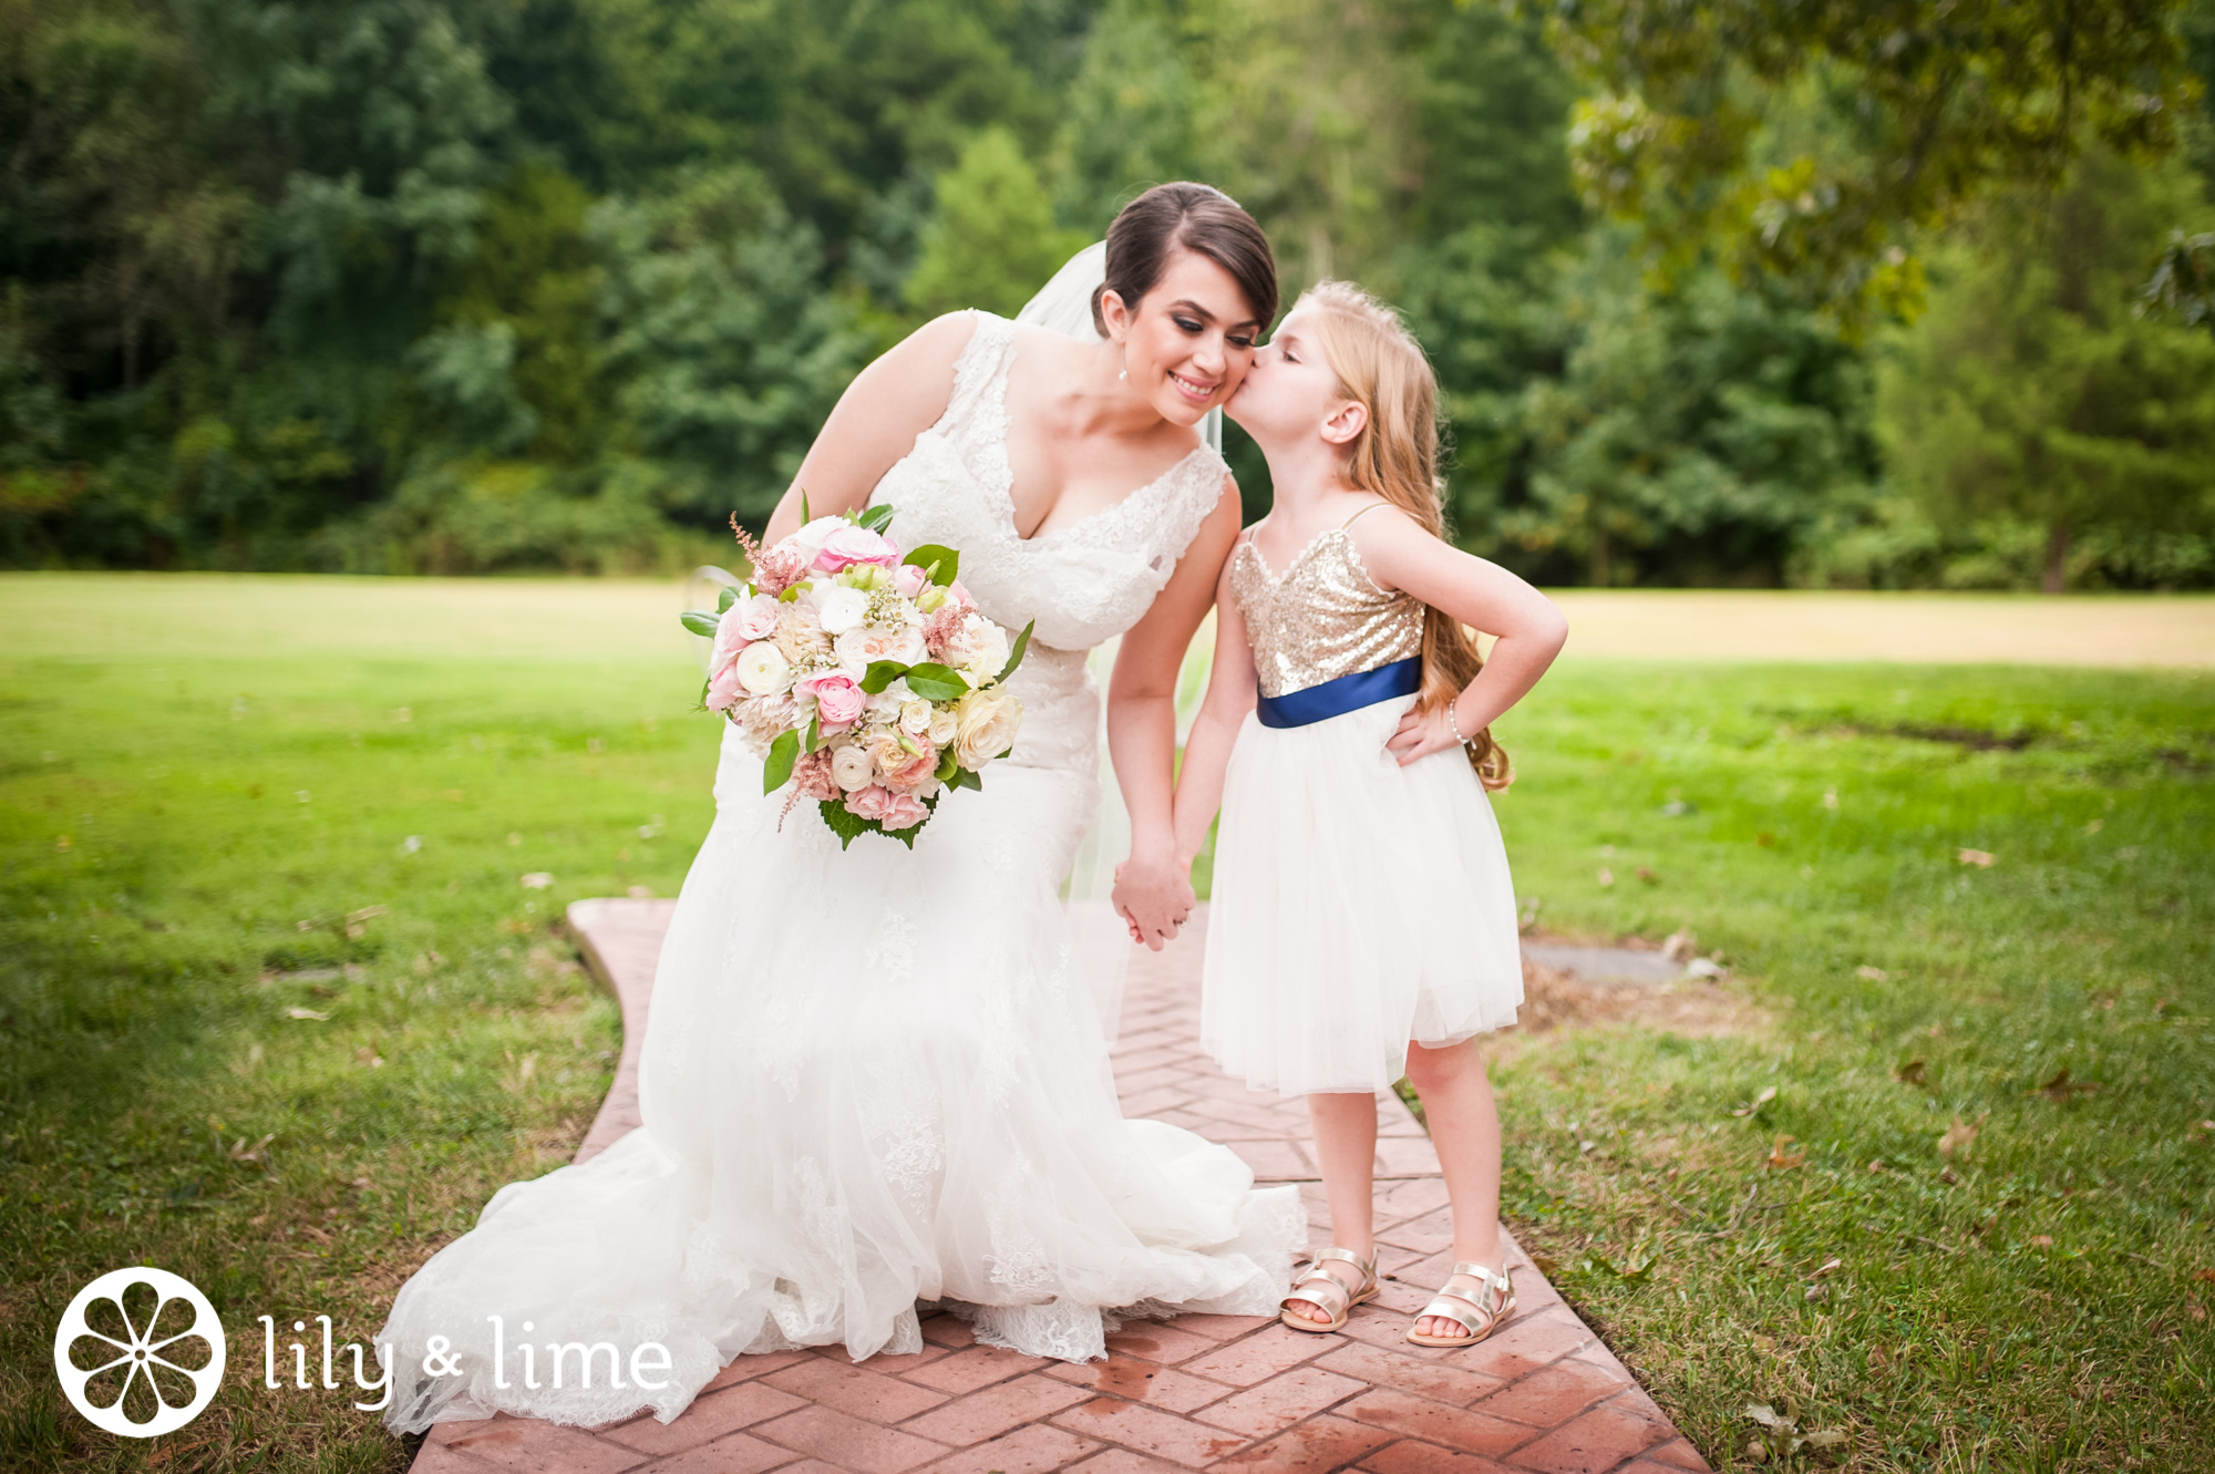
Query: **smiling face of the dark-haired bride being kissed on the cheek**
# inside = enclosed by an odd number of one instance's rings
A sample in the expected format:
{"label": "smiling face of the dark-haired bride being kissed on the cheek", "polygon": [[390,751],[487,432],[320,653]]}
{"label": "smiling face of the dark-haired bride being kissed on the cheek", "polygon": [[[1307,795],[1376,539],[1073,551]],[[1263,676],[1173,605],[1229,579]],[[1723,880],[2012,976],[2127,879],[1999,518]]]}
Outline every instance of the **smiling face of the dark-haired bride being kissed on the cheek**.
{"label": "smiling face of the dark-haired bride being kissed on the cheek", "polygon": [[1174,425],[1198,425],[1238,390],[1260,336],[1260,319],[1238,281],[1183,248],[1170,252],[1161,281],[1136,310],[1103,292],[1101,316],[1108,336],[1123,345],[1130,387]]}

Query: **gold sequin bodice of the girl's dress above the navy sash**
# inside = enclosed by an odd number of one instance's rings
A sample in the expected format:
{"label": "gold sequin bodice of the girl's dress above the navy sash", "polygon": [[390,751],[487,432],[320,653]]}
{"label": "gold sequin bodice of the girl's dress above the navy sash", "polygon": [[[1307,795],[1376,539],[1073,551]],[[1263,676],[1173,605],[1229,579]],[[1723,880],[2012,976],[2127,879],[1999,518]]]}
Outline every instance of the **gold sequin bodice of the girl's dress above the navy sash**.
{"label": "gold sequin bodice of the girl's dress above the navy sash", "polygon": [[1422,655],[1422,600],[1378,589],[1345,527],[1300,549],[1282,578],[1263,562],[1251,533],[1240,538],[1232,595],[1265,697]]}

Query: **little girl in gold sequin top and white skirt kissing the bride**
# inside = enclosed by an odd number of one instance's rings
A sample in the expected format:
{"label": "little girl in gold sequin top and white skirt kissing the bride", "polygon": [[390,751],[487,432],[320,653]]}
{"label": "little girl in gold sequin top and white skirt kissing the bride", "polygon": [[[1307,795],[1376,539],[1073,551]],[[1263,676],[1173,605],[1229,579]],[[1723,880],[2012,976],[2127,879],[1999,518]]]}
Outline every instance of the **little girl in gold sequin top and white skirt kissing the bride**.
{"label": "little girl in gold sequin top and white skirt kissing the bride", "polygon": [[[1500,1118],[1473,1036],[1515,1023],[1515,894],[1488,724],[1568,633],[1537,589],[1440,531],[1438,387],[1400,319],[1307,292],[1225,405],[1276,502],[1216,587],[1216,664],[1176,786],[1189,863],[1220,803],[1201,1042],[1254,1089],[1307,1096],[1331,1248],[1282,1304],[1338,1330],[1378,1293],[1376,1093],[1422,1096],[1453,1197],[1453,1273],[1409,1330],[1475,1346],[1515,1308]],[[1495,633],[1491,660],[1462,629]]]}

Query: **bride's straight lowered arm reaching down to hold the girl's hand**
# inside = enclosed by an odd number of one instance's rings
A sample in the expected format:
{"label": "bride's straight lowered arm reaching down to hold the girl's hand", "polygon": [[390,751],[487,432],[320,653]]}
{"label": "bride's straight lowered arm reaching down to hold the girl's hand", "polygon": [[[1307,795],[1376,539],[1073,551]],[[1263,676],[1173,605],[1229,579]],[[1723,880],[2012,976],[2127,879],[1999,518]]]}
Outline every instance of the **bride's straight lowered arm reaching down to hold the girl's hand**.
{"label": "bride's straight lowered arm reaching down to hold the girl's hand", "polygon": [[1176,863],[1170,792],[1176,766],[1176,673],[1192,633],[1214,602],[1216,573],[1238,538],[1238,482],[1223,478],[1216,509],[1145,617],[1130,626],[1108,682],[1108,752],[1114,757],[1123,808],[1130,810],[1130,859],[1114,885],[1114,905],[1154,952],[1176,936],[1192,910],[1192,881]]}

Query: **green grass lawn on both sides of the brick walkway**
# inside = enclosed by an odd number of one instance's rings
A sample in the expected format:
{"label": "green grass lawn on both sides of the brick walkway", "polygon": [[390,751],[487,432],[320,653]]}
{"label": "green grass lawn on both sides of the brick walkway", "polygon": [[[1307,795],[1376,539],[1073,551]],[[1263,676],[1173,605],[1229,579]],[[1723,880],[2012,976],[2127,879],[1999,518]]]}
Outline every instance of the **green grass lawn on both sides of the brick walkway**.
{"label": "green grass lawn on both sides of the brick walkway", "polygon": [[[616,1014],[552,921],[673,894],[709,821],[673,611],[0,580],[0,1467],[405,1463],[264,1390],[255,1317],[365,1341],[583,1135]],[[1495,1047],[1511,1222],[1701,1450],[1768,1403],[1847,1434],[1819,1465],[2215,1467],[2215,679],[1573,660],[1500,733],[1539,925],[1734,969],[1721,1031]],[[233,1339],[151,1445],[51,1370],[140,1262]]]}

